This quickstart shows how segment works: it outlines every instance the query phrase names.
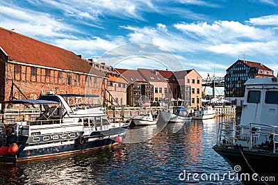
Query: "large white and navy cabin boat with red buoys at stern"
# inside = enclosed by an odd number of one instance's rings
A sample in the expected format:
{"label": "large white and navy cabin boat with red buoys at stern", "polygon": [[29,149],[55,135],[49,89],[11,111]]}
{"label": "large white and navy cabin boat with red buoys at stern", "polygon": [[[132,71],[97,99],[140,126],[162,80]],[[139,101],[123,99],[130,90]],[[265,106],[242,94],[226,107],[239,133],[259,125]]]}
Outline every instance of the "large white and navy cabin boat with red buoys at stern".
{"label": "large white and navy cabin boat with red buoys at stern", "polygon": [[[70,104],[71,97],[88,102]],[[16,163],[120,143],[129,123],[111,123],[98,101],[94,95],[42,95],[36,100],[6,102],[24,106],[13,119],[1,123],[0,162]],[[38,117],[25,118],[28,106],[40,110]]]}

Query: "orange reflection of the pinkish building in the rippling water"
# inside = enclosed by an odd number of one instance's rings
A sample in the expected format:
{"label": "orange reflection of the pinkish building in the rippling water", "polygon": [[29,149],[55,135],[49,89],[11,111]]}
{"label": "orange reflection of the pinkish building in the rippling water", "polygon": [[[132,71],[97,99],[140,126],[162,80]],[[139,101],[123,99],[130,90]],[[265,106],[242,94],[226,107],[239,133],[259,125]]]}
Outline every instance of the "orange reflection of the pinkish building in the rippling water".
{"label": "orange reflection of the pinkish building in the rippling water", "polygon": [[186,161],[190,164],[198,165],[201,162],[203,154],[202,146],[202,121],[192,120],[190,124],[185,125],[184,145],[187,146]]}

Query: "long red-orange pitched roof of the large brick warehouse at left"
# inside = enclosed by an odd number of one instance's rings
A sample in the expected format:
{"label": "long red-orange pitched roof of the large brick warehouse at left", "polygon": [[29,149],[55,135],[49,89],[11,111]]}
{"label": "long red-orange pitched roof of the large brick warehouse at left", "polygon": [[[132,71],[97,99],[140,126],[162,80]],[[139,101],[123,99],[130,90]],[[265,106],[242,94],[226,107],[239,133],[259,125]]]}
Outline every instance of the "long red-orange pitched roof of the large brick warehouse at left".
{"label": "long red-orange pitched roof of the large brick warehouse at left", "polygon": [[[104,76],[72,51],[0,27],[0,47],[10,61]],[[0,48],[0,49],[1,49]],[[92,69],[91,69],[92,68]]]}

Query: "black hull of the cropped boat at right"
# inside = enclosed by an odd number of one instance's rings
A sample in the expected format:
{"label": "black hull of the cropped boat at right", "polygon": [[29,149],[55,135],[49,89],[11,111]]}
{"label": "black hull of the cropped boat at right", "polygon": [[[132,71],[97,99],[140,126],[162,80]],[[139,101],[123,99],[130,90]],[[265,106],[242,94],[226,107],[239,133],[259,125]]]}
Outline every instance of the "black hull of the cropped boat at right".
{"label": "black hull of the cropped boat at right", "polygon": [[[278,179],[277,154],[263,151],[252,152],[249,150],[242,150],[243,154],[241,154],[238,148],[222,147],[218,145],[213,146],[213,150],[220,154],[234,170],[236,167],[240,166],[238,174],[241,175],[240,179],[244,184],[262,184],[262,182],[259,182],[259,177],[254,175],[254,172],[260,177],[268,178],[268,184],[274,183],[273,179]],[[253,168],[254,172],[250,169],[250,166],[248,166],[243,156],[245,156],[245,159],[247,159],[247,162]],[[247,176],[245,177],[246,173],[249,174],[249,180]],[[252,178],[252,175],[254,175],[255,180]],[[256,182],[256,179],[258,179],[258,182]]]}

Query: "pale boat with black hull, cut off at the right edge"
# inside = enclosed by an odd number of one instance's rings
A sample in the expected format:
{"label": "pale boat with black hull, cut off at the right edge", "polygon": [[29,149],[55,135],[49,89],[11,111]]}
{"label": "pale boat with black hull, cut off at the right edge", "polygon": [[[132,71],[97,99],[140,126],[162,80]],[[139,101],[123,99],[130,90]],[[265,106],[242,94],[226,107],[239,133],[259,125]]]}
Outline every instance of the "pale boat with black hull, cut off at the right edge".
{"label": "pale boat with black hull, cut off at the right edge", "polygon": [[277,78],[248,79],[240,123],[220,122],[213,150],[245,184],[278,179]]}

